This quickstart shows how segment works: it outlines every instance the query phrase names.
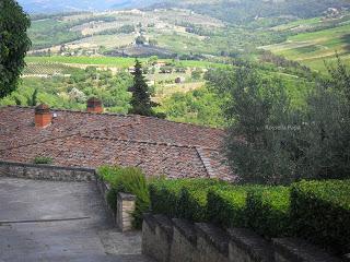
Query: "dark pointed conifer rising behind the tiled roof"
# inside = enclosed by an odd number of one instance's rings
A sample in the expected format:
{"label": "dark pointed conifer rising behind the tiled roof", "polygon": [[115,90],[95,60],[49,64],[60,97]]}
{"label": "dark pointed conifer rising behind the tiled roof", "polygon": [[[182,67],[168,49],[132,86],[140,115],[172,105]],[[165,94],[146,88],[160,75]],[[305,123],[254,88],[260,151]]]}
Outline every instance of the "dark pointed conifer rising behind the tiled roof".
{"label": "dark pointed conifer rising behind the tiled roof", "polygon": [[144,81],[142,74],[142,64],[139,60],[136,60],[133,74],[133,85],[129,88],[132,93],[131,109],[129,114],[137,114],[141,116],[156,116],[152,107],[158,106],[150,97],[149,86]]}

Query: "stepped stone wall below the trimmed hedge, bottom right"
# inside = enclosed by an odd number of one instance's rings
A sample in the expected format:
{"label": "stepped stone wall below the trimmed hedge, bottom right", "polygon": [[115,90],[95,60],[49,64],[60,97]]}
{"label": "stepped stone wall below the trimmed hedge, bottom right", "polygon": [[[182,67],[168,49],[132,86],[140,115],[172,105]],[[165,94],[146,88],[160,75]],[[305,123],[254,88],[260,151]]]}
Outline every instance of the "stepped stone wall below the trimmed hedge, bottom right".
{"label": "stepped stone wall below the trimmed hedge, bottom right", "polygon": [[142,253],[158,262],[340,262],[300,239],[267,241],[249,229],[223,230],[162,215],[144,215]]}

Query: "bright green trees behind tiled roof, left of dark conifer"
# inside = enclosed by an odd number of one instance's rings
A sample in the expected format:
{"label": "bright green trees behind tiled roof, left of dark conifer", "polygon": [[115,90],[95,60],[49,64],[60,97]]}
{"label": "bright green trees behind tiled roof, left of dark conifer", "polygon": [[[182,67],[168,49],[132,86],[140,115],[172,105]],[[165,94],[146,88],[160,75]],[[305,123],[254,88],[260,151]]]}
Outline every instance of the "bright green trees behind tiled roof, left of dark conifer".
{"label": "bright green trees behind tiled roof, left of dark conifer", "polygon": [[37,90],[36,103],[45,103],[52,108],[85,110],[86,98],[96,96],[103,100],[106,111],[128,112],[128,87],[132,83],[129,73],[119,72],[113,75],[110,71],[97,71],[89,67],[86,70],[71,69],[70,74],[69,78],[25,78],[19,90],[0,100],[0,105],[33,106]]}

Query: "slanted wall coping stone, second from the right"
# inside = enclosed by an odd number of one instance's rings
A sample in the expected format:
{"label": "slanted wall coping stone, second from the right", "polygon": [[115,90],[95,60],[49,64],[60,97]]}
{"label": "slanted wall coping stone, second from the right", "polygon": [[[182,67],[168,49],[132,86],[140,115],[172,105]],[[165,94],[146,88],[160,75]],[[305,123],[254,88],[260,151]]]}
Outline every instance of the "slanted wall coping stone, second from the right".
{"label": "slanted wall coping stone, second from the right", "polygon": [[273,261],[273,249],[270,242],[247,228],[230,228],[228,233],[235,245],[245,250],[256,261]]}

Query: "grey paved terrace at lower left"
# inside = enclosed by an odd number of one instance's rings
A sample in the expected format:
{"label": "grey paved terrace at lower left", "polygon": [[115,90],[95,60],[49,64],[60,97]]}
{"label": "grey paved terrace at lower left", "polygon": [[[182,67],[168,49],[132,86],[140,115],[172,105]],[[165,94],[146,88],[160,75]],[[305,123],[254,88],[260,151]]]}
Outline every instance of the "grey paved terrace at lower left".
{"label": "grey paved terrace at lower left", "polygon": [[94,183],[0,178],[0,262],[150,262]]}

